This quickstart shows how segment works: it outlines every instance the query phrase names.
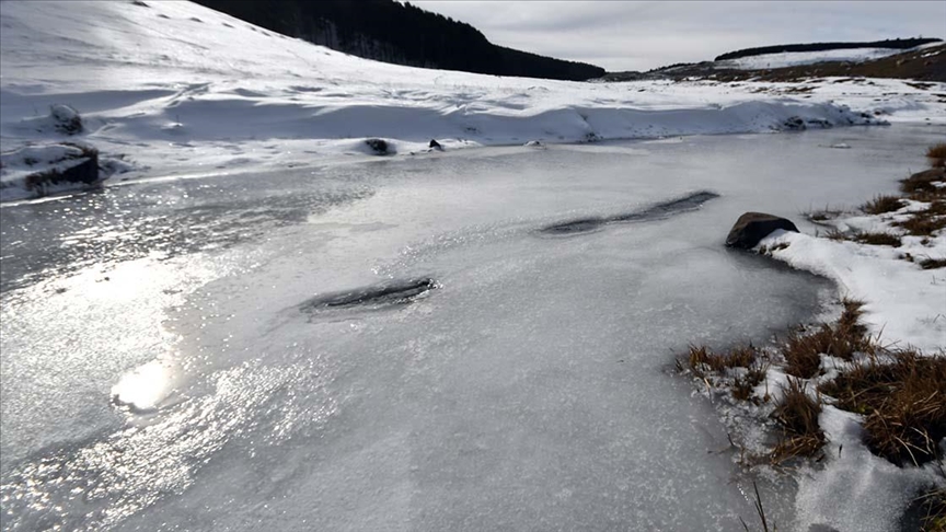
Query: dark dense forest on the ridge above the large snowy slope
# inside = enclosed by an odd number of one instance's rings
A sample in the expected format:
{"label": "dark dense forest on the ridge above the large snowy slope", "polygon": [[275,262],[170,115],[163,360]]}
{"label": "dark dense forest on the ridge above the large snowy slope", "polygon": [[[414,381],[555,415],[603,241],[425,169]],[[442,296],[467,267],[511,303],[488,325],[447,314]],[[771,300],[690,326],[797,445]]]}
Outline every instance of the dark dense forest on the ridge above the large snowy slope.
{"label": "dark dense forest on the ridge above the large snowy slope", "polygon": [[604,69],[489,43],[475,27],[394,0],[195,0],[267,30],[413,67],[582,81]]}

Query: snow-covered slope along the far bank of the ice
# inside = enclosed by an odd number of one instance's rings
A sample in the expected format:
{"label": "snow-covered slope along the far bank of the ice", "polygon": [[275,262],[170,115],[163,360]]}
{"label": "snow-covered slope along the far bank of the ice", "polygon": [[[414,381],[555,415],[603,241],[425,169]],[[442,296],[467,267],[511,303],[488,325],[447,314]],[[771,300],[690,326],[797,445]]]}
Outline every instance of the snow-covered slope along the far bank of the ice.
{"label": "snow-covered slope along the far bank of the ice", "polygon": [[81,113],[86,132],[79,140],[149,174],[300,165],[362,154],[366,137],[394,140],[405,153],[431,138],[452,149],[770,131],[795,116],[875,122],[876,109],[886,119],[905,111],[911,119],[946,122],[935,91],[899,81],[842,94],[826,81],[823,94],[786,95],[752,83],[576,83],[425,70],[333,51],[189,2],[140,3],[0,4],[4,152],[48,139],[37,126],[53,104]]}

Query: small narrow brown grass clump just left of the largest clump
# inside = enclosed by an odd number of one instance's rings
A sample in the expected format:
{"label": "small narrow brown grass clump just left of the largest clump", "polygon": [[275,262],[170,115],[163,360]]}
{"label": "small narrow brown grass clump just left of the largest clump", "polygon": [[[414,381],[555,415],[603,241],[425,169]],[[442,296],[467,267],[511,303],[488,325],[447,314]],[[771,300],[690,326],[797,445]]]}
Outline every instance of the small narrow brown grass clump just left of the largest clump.
{"label": "small narrow brown grass clump just left of the largest clump", "polygon": [[820,397],[808,395],[807,385],[800,379],[788,379],[782,401],[772,412],[772,417],[782,427],[783,439],[772,450],[771,459],[782,463],[795,456],[812,456],[824,444],[824,432],[818,426],[821,414]]}

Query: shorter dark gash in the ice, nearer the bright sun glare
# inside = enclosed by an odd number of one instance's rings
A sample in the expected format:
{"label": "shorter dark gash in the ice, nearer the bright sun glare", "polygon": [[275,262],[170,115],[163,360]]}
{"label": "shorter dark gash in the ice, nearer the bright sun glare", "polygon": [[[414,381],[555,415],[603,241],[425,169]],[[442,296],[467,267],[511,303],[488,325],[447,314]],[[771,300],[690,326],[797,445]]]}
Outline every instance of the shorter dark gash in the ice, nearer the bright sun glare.
{"label": "shorter dark gash in the ice, nearer the bright sun glare", "polygon": [[300,305],[303,312],[319,312],[333,309],[384,307],[409,303],[430,290],[440,288],[440,284],[430,277],[419,279],[401,279],[361,287],[344,292],[316,296]]}

